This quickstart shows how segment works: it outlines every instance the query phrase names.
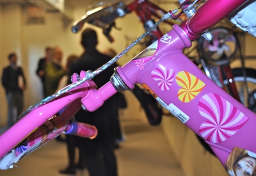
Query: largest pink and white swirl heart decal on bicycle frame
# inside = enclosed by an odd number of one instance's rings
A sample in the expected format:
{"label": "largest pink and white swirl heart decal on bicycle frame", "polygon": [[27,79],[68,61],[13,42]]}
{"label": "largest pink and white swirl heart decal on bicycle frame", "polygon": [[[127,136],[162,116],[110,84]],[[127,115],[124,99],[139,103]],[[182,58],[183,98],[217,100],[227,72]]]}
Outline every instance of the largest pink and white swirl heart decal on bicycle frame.
{"label": "largest pink and white swirl heart decal on bicycle frame", "polygon": [[200,115],[208,120],[199,128],[201,136],[212,143],[220,143],[233,136],[247,122],[239,109],[215,93],[204,95],[199,103]]}

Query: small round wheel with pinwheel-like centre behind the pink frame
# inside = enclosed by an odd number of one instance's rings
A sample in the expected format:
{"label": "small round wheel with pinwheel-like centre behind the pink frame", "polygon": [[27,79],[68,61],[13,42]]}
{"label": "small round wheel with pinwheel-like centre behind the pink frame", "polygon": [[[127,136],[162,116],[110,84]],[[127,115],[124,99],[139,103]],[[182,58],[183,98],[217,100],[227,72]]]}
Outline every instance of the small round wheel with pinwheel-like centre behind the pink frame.
{"label": "small round wheel with pinwheel-like centre behind the pink frame", "polygon": [[[213,65],[230,63],[236,54],[239,42],[236,33],[230,34],[230,30],[222,27],[211,29],[211,41],[200,37],[198,40],[198,54]],[[225,40],[225,42],[221,44],[221,40]]]}

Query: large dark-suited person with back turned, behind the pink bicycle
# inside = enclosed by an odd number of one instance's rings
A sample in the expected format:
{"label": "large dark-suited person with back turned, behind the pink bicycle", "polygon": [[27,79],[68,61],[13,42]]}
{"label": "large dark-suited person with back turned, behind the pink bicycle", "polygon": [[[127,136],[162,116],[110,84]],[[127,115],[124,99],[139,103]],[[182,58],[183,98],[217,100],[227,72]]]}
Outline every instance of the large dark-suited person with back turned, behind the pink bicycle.
{"label": "large dark-suited person with back turned, behind the pink bicycle", "polygon": [[[70,75],[80,73],[81,70],[96,70],[97,68],[111,60],[111,57],[101,54],[96,49],[98,44],[97,33],[93,29],[85,29],[81,35],[81,45],[84,53],[72,65]],[[108,83],[113,74],[113,69],[117,67],[114,63],[104,70],[100,76],[95,76],[92,80],[100,88]],[[78,139],[79,151],[83,152],[84,166],[88,169],[90,176],[116,176],[116,157],[114,154],[115,145],[115,121],[118,116],[118,102],[116,96],[109,98],[103,106],[94,112],[86,112],[81,109],[76,115],[77,122],[95,125],[98,135],[95,139]]]}

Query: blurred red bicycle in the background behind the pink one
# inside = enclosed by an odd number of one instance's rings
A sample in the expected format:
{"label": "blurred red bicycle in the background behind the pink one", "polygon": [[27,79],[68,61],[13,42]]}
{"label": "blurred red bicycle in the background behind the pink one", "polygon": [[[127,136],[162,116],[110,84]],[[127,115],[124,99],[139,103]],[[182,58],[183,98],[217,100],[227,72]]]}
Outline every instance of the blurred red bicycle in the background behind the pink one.
{"label": "blurred red bicycle in the background behind the pink one", "polygon": [[[136,13],[145,31],[154,25],[154,19],[161,19],[161,17],[167,13],[163,8],[147,0],[134,0],[131,2],[102,1],[90,6],[86,15],[75,22],[72,31],[76,33],[81,29],[84,23],[88,22],[89,24],[101,28],[109,42],[113,42],[114,39],[110,35],[110,32],[112,28],[116,28],[115,19],[122,18],[131,12]],[[172,26],[173,24],[181,24],[181,22],[186,19],[186,15],[182,14],[178,19],[174,20],[169,18],[163,22]],[[224,26],[228,26],[228,28],[220,27],[223,26],[223,24]],[[219,27],[214,26],[214,28],[211,29],[213,35],[211,41],[207,41],[201,36],[196,40],[197,45],[193,47],[193,49],[190,49],[189,52],[185,51],[184,53],[186,53],[186,56],[189,56],[188,58],[194,60],[197,65],[201,65],[202,70],[204,70],[207,76],[218,84],[218,86],[244,104],[244,106],[255,111],[256,103],[254,94],[256,70],[244,68],[244,59],[237,37],[237,28],[231,28],[230,22],[227,24],[227,20],[225,20],[225,22],[223,20],[222,24],[218,25]],[[143,42],[147,47],[161,38],[163,32],[159,28],[156,28],[150,31],[148,36],[147,40]],[[198,56],[195,57],[194,55],[191,57],[189,54],[193,51],[197,51],[196,55]],[[235,55],[239,55],[239,58],[241,58],[242,67],[231,69],[230,62],[234,60]],[[135,88],[132,92],[134,93],[136,90],[138,89]],[[141,102],[141,104],[143,103]],[[170,113],[166,113],[166,111],[163,112],[166,115],[170,115]],[[160,120],[158,120],[158,122],[160,122]]]}

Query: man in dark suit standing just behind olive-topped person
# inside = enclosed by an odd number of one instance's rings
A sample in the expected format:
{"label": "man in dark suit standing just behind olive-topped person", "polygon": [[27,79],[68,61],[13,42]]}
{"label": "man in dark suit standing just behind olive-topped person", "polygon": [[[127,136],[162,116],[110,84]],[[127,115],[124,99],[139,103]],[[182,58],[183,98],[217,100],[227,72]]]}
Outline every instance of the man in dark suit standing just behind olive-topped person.
{"label": "man in dark suit standing just behind olive-topped person", "polygon": [[36,69],[36,74],[38,75],[38,77],[40,77],[42,84],[43,84],[43,91],[44,91],[44,98],[45,96],[45,67],[46,67],[46,63],[48,63],[48,61],[51,58],[51,47],[46,47],[45,48],[45,57],[44,58],[40,58],[40,60],[38,61],[38,66]]}

